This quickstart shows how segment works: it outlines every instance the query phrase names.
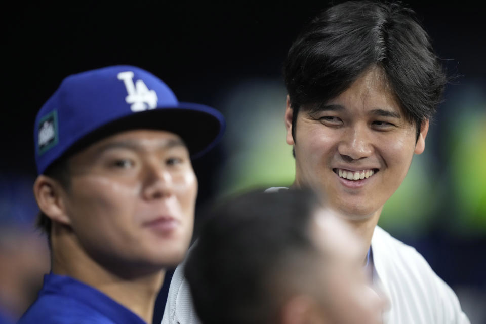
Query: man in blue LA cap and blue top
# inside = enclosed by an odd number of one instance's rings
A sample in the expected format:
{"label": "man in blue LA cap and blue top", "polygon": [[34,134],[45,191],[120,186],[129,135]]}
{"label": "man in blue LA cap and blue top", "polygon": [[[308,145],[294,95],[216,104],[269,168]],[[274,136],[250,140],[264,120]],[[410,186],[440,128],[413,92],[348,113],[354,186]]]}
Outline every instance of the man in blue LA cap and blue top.
{"label": "man in blue LA cap and blue top", "polygon": [[222,136],[215,109],[179,102],[134,66],[68,76],[38,112],[34,195],[51,273],[19,323],[149,323],[192,236],[191,159]]}

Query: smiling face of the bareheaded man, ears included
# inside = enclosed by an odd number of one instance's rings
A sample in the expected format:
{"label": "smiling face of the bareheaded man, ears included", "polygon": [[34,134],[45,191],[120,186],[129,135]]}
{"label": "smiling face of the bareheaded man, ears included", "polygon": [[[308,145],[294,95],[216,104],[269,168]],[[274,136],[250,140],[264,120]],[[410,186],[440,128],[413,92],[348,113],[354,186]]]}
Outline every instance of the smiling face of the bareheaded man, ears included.
{"label": "smiling face of the bareheaded man, ears included", "polygon": [[329,102],[301,107],[295,141],[292,109],[286,110],[287,143],[294,145],[296,185],[325,195],[350,219],[379,216],[405,178],[412,157],[423,152],[428,122],[416,126],[373,68]]}

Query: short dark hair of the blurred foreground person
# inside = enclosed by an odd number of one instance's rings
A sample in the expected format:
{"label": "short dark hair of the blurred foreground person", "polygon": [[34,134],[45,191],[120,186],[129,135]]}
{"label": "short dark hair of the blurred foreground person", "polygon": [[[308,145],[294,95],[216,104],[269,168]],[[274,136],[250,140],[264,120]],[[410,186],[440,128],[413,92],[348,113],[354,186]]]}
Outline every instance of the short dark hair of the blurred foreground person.
{"label": "short dark hair of the blurred foreground person", "polygon": [[288,283],[276,277],[296,270],[302,256],[315,259],[309,220],[318,206],[310,191],[282,189],[252,191],[211,210],[184,266],[201,321],[272,322],[275,289]]}

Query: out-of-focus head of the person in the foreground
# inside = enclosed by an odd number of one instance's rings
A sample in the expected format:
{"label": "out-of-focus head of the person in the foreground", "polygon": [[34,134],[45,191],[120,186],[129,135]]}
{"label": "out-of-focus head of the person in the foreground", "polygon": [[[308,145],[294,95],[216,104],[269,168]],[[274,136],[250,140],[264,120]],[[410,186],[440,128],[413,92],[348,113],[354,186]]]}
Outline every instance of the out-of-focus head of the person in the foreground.
{"label": "out-of-focus head of the person in the foreground", "polygon": [[184,272],[203,323],[378,323],[360,245],[310,191],[250,192],[211,210]]}

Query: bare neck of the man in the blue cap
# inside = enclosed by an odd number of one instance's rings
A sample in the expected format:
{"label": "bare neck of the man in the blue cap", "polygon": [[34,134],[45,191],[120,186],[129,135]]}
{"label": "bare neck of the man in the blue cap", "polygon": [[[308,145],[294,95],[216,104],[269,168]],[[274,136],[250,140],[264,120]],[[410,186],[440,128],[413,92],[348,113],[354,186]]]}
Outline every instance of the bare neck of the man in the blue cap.
{"label": "bare neck of the man in the blue cap", "polygon": [[162,287],[165,270],[128,275],[115,273],[93,260],[72,237],[53,237],[52,243],[54,274],[82,281],[125,306],[145,322],[152,322],[155,300]]}

